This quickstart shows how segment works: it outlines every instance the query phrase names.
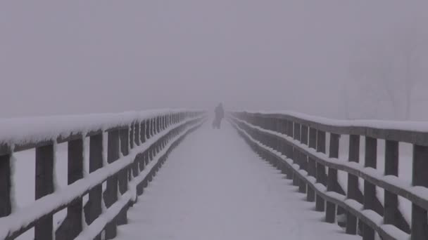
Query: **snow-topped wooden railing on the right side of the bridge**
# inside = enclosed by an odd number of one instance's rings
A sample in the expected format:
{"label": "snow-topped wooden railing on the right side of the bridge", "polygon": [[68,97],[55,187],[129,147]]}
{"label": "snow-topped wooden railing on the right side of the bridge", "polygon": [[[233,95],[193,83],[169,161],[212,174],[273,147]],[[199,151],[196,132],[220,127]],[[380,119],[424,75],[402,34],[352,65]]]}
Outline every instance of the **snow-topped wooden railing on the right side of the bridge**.
{"label": "snow-topped wooden railing on the right side of the bridge", "polygon": [[[233,112],[229,121],[252,149],[293,179],[327,222],[346,213],[346,233],[363,239],[428,239],[428,128],[424,123],[336,121],[303,114]],[[348,157],[339,157],[339,138],[349,136]],[[328,137],[328,138],[327,138]],[[360,138],[365,144],[360,147]],[[328,155],[326,139],[329,139]],[[377,143],[384,140],[384,171],[377,170]],[[413,145],[413,181],[398,178],[399,144]],[[360,149],[364,152],[364,165]],[[338,171],[348,174],[344,192]],[[364,180],[363,192],[358,180]],[[361,187],[361,186],[360,186]],[[376,188],[384,189],[383,202]],[[411,201],[404,220],[398,196]],[[360,227],[359,227],[360,226]],[[360,230],[360,231],[359,231]]]}

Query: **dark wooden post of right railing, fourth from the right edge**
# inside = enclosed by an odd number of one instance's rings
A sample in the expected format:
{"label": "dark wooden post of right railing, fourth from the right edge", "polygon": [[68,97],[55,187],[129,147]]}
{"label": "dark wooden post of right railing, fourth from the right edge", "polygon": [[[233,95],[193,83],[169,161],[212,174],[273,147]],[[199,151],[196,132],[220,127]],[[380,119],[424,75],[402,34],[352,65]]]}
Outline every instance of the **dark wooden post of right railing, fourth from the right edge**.
{"label": "dark wooden post of right railing, fourth from the right edge", "polygon": [[[348,161],[360,161],[360,135],[349,135]],[[348,199],[358,201],[358,177],[348,173]],[[346,213],[346,233],[357,234],[357,218],[352,213]]]}

